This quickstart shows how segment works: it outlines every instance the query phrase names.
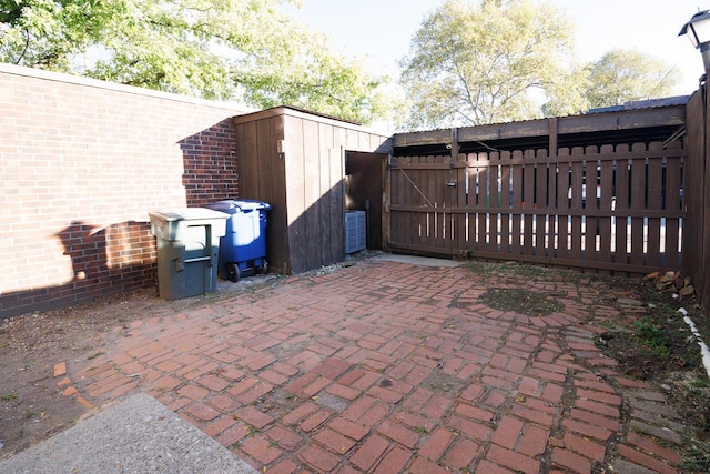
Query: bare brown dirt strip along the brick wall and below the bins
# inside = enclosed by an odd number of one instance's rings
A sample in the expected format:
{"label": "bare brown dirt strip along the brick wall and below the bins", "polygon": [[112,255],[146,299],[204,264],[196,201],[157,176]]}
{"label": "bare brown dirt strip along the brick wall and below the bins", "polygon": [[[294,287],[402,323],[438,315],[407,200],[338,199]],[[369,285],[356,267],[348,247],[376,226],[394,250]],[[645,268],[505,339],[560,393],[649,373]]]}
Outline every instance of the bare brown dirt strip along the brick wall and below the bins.
{"label": "bare brown dirt strip along the brick wall and below the bins", "polygon": [[54,376],[60,362],[84,363],[103,352],[116,327],[172,315],[273,284],[275,276],[219,282],[219,292],[178,301],[156,297],[155,289],[95,300],[57,311],[0,320],[0,458],[71,426],[87,409],[62,392]]}

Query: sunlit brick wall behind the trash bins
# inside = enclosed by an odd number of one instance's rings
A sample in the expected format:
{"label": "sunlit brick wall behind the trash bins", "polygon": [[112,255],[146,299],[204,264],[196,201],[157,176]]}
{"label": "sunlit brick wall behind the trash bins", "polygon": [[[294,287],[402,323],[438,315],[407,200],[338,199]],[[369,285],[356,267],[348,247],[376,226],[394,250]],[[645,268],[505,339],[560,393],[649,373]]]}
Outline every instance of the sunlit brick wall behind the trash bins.
{"label": "sunlit brick wall behind the trash bins", "polygon": [[154,284],[148,212],[239,195],[244,111],[0,64],[0,317]]}

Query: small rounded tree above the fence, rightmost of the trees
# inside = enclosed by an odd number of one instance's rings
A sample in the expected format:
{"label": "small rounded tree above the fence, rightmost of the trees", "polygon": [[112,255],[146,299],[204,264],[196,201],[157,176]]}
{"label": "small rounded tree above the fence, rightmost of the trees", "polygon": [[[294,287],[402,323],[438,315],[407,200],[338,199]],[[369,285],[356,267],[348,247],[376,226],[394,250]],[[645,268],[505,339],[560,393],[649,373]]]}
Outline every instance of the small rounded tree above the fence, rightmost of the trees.
{"label": "small rounded tree above the fence, rightmost of the trees", "polygon": [[585,98],[589,108],[670,95],[678,71],[636,50],[616,49],[588,67]]}

